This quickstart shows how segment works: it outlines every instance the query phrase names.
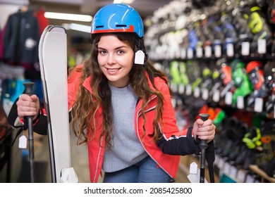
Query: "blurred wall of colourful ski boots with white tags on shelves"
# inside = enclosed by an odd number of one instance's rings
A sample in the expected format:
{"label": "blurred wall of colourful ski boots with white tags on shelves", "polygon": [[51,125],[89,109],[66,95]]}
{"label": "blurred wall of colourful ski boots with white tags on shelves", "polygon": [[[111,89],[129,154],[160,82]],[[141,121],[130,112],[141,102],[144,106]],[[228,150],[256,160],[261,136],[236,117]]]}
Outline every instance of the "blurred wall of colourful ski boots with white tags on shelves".
{"label": "blurred wall of colourful ski boots with white tags on shelves", "polygon": [[147,18],[149,57],[171,80],[179,127],[216,124],[220,182],[275,182],[274,2],[172,1]]}

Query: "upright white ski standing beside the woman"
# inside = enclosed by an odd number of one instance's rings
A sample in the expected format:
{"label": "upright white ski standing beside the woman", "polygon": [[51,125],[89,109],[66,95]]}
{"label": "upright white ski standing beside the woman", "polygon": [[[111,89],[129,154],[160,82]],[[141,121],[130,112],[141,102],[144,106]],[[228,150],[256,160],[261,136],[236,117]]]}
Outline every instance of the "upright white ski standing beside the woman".
{"label": "upright white ski standing beside the woman", "polygon": [[67,36],[49,25],[39,41],[44,107],[47,111],[52,182],[78,182],[71,167],[67,87]]}

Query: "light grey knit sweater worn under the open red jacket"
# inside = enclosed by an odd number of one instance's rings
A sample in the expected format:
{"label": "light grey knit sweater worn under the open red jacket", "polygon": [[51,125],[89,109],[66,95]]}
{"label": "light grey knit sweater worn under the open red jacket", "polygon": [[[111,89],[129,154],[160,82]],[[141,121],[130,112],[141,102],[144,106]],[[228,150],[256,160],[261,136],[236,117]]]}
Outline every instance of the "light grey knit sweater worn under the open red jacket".
{"label": "light grey knit sweater worn under the open red jacket", "polygon": [[128,85],[111,89],[111,106],[113,110],[114,140],[111,149],[105,149],[103,170],[114,172],[129,167],[147,156],[135,134],[135,106],[138,96]]}

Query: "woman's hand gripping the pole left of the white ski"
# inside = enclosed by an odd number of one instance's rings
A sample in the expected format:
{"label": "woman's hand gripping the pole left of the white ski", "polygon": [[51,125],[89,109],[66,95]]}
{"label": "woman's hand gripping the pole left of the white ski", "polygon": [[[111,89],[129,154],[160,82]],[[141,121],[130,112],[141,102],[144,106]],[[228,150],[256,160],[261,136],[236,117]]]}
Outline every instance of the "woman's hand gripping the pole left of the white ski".
{"label": "woman's hand gripping the pole left of the white ski", "polygon": [[19,117],[33,115],[34,117],[32,120],[37,118],[39,113],[39,98],[35,94],[32,94],[32,96],[21,94],[16,105]]}

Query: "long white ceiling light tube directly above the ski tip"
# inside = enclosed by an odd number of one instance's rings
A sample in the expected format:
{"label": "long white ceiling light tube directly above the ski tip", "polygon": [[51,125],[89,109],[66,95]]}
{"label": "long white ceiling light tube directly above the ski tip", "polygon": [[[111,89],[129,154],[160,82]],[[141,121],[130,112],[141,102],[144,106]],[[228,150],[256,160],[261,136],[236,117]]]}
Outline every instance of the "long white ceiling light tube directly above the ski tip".
{"label": "long white ceiling light tube directly above the ski tip", "polygon": [[72,14],[72,13],[53,13],[45,12],[44,16],[46,18],[62,19],[62,20],[77,20],[84,22],[91,22],[92,16],[90,15],[81,15],[81,14]]}

